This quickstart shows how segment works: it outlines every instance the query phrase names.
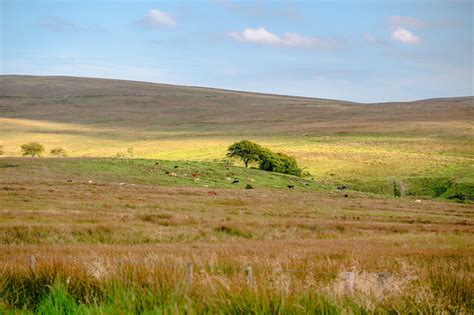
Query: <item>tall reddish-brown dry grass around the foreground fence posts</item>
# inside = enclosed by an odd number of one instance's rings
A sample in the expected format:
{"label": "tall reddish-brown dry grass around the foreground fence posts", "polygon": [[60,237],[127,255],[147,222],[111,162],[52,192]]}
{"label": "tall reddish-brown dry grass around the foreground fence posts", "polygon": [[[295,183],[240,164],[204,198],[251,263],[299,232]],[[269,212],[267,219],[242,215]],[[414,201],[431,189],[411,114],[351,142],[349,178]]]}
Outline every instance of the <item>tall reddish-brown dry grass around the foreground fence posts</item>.
{"label": "tall reddish-brown dry grass around the foreground fence posts", "polygon": [[[255,245],[51,247],[37,255],[34,272],[27,255],[33,248],[11,249],[17,256],[0,271],[2,307],[223,314],[468,314],[474,309],[474,262],[467,254],[420,251],[399,258],[400,252],[391,256],[372,247],[359,254],[344,255],[339,248],[318,256],[320,251],[302,243],[293,244],[297,250],[291,244],[268,245],[258,254]],[[188,263],[194,267],[192,283]],[[247,266],[253,267],[251,283]],[[345,288],[345,271],[355,273],[353,294]]]}

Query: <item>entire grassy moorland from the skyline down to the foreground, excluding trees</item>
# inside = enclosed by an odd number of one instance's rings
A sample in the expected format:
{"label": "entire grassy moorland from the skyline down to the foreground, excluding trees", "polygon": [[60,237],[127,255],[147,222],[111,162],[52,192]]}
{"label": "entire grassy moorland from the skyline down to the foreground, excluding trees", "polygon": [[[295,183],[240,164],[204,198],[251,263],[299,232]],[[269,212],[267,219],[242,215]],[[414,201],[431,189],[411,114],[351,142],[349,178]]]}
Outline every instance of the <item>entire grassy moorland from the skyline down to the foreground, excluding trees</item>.
{"label": "entire grassy moorland from the skyline down to the foreground, excluding trees", "polygon": [[2,76],[0,313],[471,314],[473,110]]}

